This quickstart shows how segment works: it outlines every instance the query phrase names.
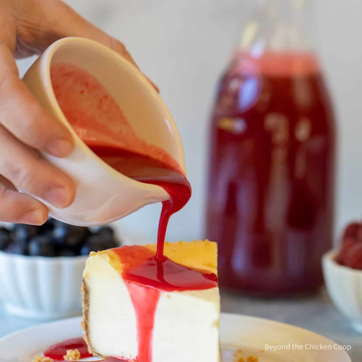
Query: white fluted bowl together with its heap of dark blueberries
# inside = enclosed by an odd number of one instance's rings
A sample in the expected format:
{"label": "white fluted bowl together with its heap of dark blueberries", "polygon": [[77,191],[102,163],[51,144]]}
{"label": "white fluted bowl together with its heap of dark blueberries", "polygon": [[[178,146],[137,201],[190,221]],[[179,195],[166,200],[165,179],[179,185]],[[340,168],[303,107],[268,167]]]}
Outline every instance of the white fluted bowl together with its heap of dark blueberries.
{"label": "white fluted bowl together with its heap of dark blueberries", "polygon": [[109,226],[0,227],[0,301],[9,313],[51,320],[80,315],[83,270],[90,252],[119,246]]}

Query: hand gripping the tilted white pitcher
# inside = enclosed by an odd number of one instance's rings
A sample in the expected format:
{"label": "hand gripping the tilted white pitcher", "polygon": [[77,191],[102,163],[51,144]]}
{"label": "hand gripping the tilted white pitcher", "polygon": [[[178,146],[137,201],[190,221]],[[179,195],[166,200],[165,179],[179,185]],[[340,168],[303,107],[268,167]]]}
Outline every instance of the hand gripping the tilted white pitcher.
{"label": "hand gripping the tilted white pitcher", "polygon": [[136,66],[121,42],[59,0],[0,1],[0,221],[40,225],[47,220],[46,206],[14,185],[56,207],[74,199],[70,178],[37,152],[68,156],[74,146],[70,133],[25,87],[14,60],[40,54],[69,36],[98,41]]}

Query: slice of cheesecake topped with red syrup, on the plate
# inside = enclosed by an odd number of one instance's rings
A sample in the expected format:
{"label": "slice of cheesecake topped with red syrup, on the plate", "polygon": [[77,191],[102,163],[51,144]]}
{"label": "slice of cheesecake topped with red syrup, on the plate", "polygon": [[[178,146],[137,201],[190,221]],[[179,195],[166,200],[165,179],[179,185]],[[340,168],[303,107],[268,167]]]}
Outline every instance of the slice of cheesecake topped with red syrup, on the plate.
{"label": "slice of cheesecake topped with red syrup, on the plate", "polygon": [[83,274],[90,353],[138,362],[218,362],[216,243],[165,243],[91,253]]}

